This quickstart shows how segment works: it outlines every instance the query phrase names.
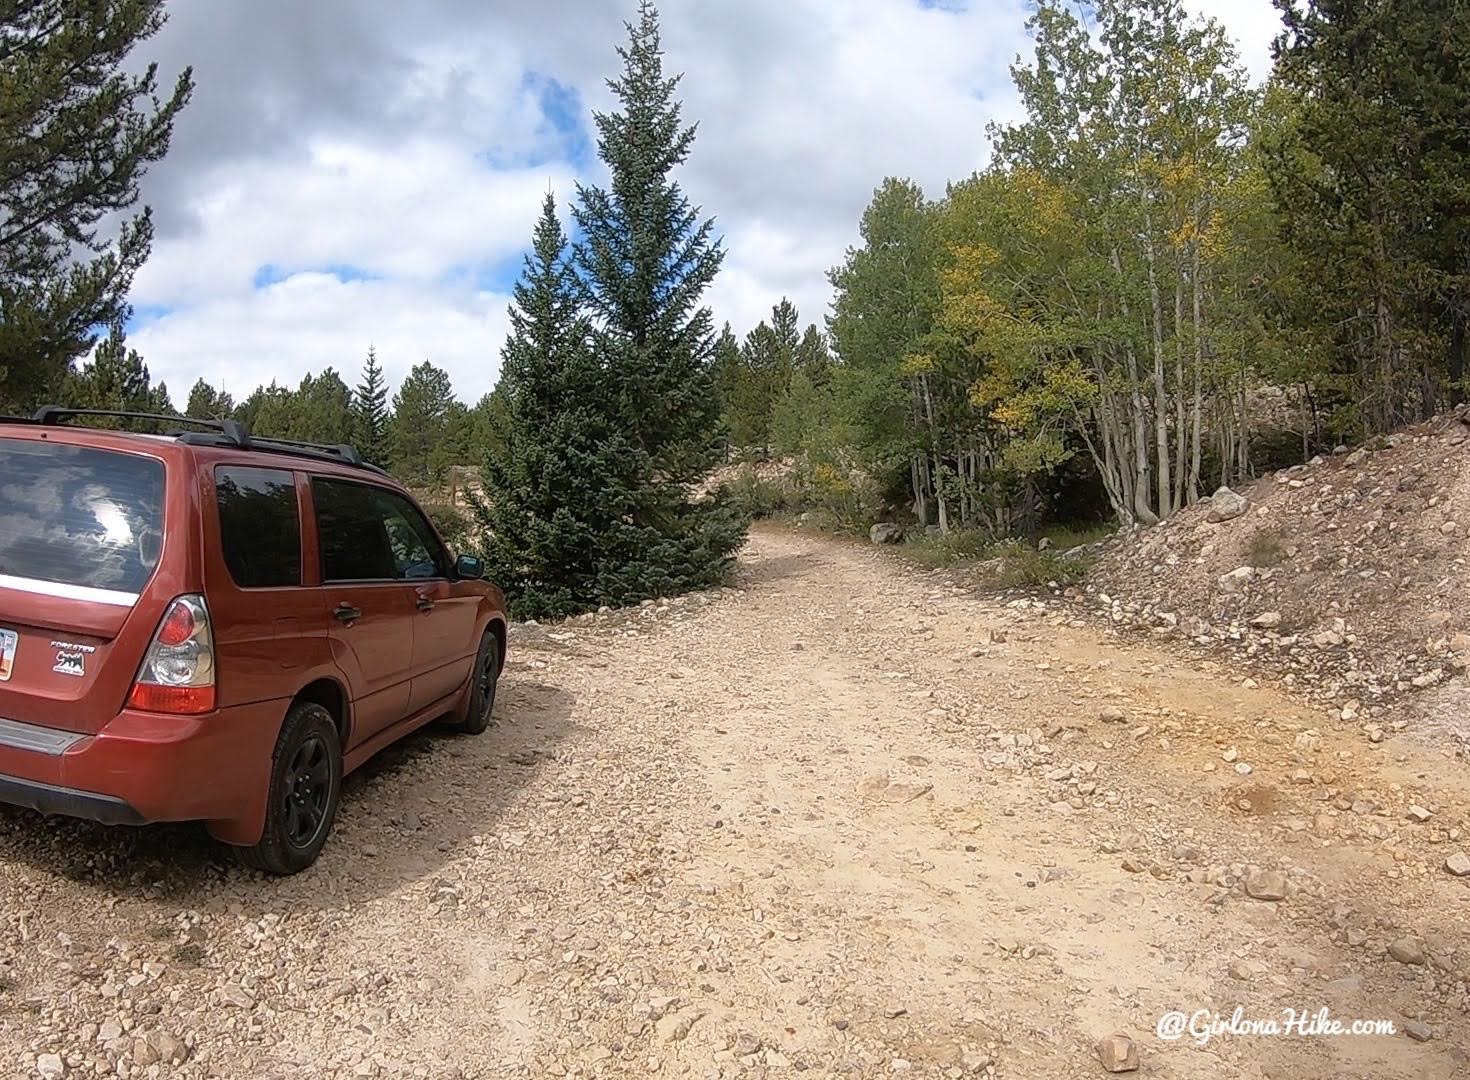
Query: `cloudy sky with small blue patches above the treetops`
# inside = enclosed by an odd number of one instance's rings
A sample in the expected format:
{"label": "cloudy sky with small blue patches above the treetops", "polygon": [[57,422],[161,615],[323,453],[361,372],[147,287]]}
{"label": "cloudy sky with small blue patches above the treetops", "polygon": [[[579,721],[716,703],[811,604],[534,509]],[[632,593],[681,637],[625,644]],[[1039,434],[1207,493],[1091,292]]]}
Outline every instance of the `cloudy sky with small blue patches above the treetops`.
{"label": "cloudy sky with small blue patches above the treetops", "polygon": [[[197,90],[144,198],[153,257],[131,341],[182,406],[326,366],[429,359],[473,403],[550,187],[598,181],[634,0],[173,0],[144,50]],[[1257,75],[1270,0],[1195,0]],[[728,250],[710,294],[744,332],[779,297],[819,320],[825,272],[886,175],[938,194],[1016,115],[1025,0],[664,0],[666,63],[700,138],[681,181]]]}

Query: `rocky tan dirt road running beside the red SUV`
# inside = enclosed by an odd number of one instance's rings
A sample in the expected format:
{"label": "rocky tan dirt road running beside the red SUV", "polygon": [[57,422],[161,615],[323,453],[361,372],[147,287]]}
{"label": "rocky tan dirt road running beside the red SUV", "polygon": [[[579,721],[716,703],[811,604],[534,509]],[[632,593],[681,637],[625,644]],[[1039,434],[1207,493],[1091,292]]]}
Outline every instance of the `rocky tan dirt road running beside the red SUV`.
{"label": "rocky tan dirt road running beside the red SUV", "polygon": [[[0,814],[0,1077],[1470,1076],[1470,785],[1413,729],[773,530],[501,694],[290,880]],[[1155,1036],[1236,1007],[1399,1033]]]}

